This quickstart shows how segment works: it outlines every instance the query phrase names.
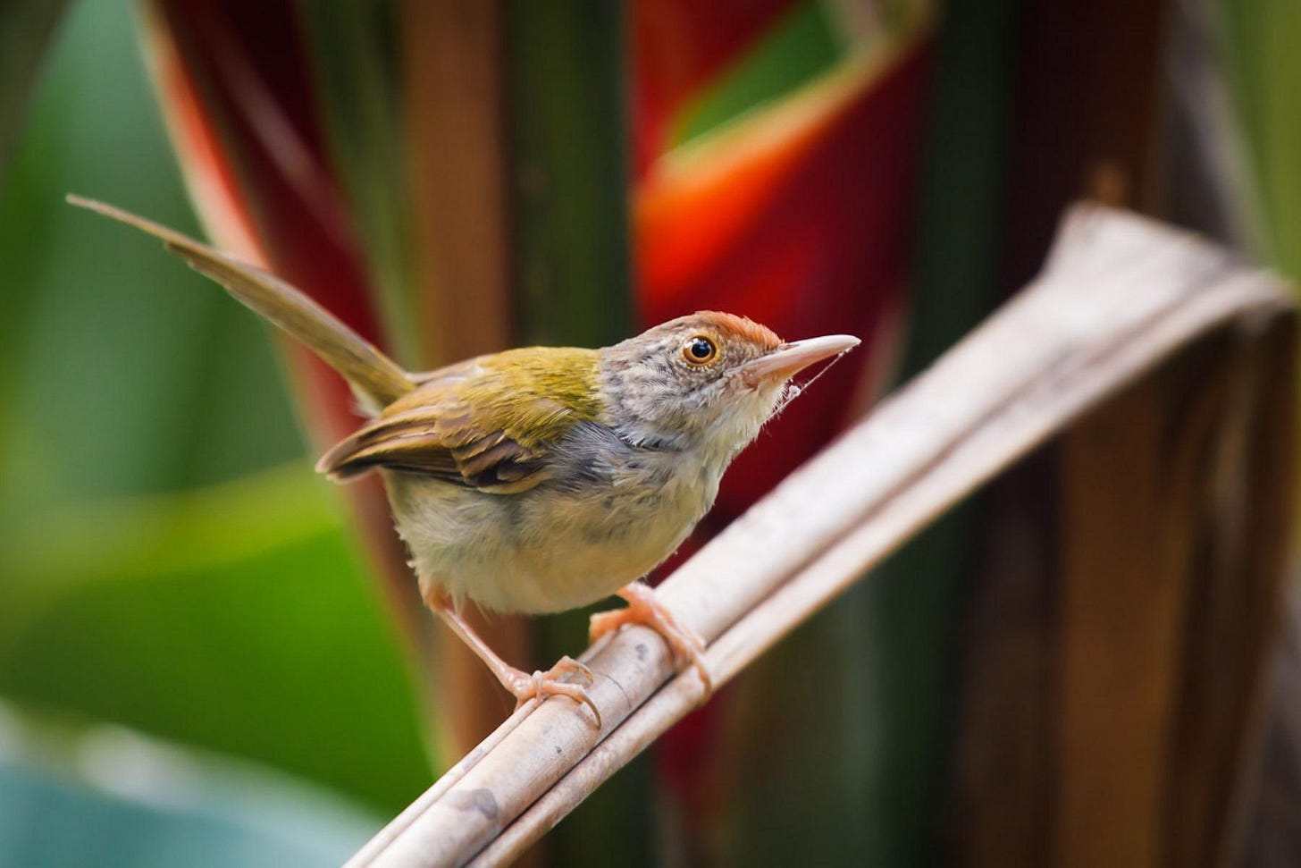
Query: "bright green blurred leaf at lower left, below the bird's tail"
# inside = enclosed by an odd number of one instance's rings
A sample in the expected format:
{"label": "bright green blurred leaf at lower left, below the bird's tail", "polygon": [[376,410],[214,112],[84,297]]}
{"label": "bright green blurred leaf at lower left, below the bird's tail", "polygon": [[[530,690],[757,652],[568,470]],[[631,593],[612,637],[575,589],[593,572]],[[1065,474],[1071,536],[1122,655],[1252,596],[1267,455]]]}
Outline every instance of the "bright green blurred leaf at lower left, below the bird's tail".
{"label": "bright green blurred leaf at lower left, below the bird's tail", "polygon": [[0,691],[402,807],[416,700],[323,488],[294,466],[7,528]]}

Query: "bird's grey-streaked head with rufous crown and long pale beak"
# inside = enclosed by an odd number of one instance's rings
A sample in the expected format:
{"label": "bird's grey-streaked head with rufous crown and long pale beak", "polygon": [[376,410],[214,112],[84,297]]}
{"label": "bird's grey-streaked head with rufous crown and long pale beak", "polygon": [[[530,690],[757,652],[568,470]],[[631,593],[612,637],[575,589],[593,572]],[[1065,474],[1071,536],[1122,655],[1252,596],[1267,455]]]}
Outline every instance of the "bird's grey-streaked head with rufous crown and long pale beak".
{"label": "bird's grey-streaked head with rufous crown and long pale beak", "polygon": [[857,344],[848,334],[783,342],[743,316],[701,311],[602,350],[601,380],[624,439],[730,461],[782,405],[791,377]]}

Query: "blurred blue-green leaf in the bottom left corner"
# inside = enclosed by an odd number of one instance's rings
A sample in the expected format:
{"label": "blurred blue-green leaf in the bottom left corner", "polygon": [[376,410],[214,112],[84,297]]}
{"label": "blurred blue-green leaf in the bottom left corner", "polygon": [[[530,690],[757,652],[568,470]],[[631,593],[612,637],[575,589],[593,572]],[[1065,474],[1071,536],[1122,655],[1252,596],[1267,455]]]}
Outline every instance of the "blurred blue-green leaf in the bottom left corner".
{"label": "blurred blue-green leaf in the bottom left corner", "polygon": [[337,865],[375,824],[262,766],[0,703],[0,864]]}

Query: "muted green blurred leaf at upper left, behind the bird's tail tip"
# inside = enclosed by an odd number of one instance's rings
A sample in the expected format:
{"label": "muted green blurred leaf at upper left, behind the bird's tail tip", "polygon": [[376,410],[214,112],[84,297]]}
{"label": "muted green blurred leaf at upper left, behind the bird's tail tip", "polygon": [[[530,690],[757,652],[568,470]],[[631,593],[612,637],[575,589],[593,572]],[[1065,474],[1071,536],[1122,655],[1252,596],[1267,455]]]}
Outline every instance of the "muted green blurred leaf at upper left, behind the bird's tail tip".
{"label": "muted green blurred leaf at upper left, behind the bird's tail tip", "polygon": [[194,232],[135,51],[131,5],[77,5],[0,190],[0,521],[64,497],[174,491],[302,454],[247,311],[96,195]]}

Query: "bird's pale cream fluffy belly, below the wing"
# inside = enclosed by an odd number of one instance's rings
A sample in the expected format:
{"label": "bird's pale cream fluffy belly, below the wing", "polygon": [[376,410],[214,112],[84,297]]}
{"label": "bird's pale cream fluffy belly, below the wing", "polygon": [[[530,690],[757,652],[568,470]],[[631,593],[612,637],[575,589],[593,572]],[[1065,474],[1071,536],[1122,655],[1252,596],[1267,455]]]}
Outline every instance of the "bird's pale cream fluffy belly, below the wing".
{"label": "bird's pale cream fluffy belly, below the wing", "polygon": [[496,612],[562,612],[614,593],[669,557],[713,500],[699,483],[485,495],[407,474],[386,481],[422,593]]}

